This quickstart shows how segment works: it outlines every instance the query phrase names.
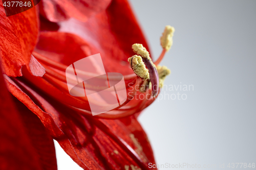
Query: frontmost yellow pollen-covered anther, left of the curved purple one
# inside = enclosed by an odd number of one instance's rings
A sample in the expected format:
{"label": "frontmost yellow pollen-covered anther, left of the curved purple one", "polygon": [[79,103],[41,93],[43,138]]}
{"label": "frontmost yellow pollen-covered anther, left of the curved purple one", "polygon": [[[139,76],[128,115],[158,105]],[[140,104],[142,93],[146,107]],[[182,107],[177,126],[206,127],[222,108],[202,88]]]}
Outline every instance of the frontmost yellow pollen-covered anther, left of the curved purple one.
{"label": "frontmost yellow pollen-covered anther, left of the curved purple one", "polygon": [[147,80],[150,78],[148,69],[146,68],[142,58],[140,56],[134,55],[128,59],[134,73],[139,76],[142,80]]}

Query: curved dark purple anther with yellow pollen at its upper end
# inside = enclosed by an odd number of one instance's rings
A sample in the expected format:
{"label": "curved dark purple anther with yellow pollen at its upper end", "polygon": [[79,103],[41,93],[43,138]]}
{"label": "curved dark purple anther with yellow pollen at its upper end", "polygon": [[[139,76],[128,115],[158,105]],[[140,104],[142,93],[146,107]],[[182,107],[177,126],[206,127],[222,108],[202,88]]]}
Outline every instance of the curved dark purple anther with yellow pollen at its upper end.
{"label": "curved dark purple anther with yellow pollen at its upper end", "polygon": [[146,50],[146,48],[142,44],[133,44],[133,51],[137,53],[137,55],[142,57],[142,61],[146,65],[148,72],[150,73],[150,81],[152,83],[152,95],[153,97],[158,93],[159,87],[159,78],[157,73],[156,65],[153,63],[150,58],[150,53]]}

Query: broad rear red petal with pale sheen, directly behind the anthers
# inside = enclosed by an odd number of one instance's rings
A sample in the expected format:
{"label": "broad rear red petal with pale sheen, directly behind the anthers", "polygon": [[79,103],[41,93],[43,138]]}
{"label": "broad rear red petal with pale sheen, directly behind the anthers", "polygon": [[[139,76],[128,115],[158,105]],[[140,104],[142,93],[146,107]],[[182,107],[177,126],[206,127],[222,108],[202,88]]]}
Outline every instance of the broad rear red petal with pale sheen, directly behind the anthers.
{"label": "broad rear red petal with pale sheen, directly behind the anthers", "polygon": [[141,43],[148,49],[129,3],[123,0],[112,1],[105,11],[86,22],[70,19],[58,24],[59,31],[76,34],[90,42],[90,46],[96,49],[92,50],[92,54],[100,53],[105,69],[109,72],[131,74],[127,59],[134,55],[132,44]]}

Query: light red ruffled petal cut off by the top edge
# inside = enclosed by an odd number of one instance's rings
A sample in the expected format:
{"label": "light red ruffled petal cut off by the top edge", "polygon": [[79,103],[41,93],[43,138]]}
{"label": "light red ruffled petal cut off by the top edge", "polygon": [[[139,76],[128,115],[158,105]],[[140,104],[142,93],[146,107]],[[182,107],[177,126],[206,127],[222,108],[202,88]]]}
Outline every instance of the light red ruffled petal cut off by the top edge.
{"label": "light red ruffled petal cut off by the top edge", "polygon": [[40,13],[53,22],[69,19],[86,21],[90,16],[105,10],[111,0],[42,0]]}

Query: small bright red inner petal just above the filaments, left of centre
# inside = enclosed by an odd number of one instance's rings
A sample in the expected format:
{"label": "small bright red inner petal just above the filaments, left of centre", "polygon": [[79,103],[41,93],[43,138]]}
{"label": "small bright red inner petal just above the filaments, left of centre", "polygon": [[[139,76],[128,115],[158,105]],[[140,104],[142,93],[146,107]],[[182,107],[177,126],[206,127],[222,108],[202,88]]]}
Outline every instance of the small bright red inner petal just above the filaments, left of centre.
{"label": "small bright red inner petal just above the filaments, left of centre", "polygon": [[35,52],[66,66],[92,55],[91,50],[94,49],[89,42],[60,32],[41,32],[35,47]]}

